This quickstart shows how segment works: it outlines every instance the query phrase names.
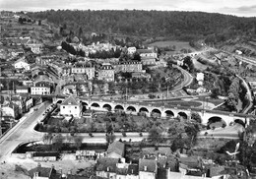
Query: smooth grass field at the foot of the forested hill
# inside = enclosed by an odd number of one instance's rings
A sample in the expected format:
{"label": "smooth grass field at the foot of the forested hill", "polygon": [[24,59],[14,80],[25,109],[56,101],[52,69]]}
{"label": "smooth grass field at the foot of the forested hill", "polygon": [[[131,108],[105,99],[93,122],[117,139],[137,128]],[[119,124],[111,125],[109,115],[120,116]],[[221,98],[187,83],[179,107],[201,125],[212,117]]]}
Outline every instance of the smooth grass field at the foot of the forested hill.
{"label": "smooth grass field at the foot of the forested hill", "polygon": [[182,48],[190,49],[192,52],[195,51],[193,47],[189,45],[188,41],[176,41],[176,40],[167,40],[167,41],[156,41],[154,43],[149,44],[149,46],[158,46],[158,47],[167,47],[167,46],[176,46],[175,51],[171,52],[179,52]]}

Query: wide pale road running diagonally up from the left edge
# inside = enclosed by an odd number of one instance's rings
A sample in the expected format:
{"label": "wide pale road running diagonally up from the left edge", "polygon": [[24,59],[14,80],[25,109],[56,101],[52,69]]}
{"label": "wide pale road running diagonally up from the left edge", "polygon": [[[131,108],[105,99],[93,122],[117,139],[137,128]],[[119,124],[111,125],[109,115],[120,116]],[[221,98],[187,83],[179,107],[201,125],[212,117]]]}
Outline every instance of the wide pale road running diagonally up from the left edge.
{"label": "wide pale road running diagonally up from the left edge", "polygon": [[0,162],[3,161],[21,143],[41,139],[42,134],[33,131],[37,120],[42,117],[42,113],[50,103],[40,104],[37,111],[26,114],[20,122],[0,139]]}

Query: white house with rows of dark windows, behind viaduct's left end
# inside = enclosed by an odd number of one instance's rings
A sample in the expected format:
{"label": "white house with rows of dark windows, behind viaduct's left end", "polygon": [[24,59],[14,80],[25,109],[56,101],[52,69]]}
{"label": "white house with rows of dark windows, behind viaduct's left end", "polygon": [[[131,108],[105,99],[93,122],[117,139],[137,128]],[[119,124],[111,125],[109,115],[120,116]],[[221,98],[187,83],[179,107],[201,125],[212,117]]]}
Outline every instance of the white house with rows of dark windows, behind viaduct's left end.
{"label": "white house with rows of dark windows, behind viaduct's left end", "polygon": [[45,95],[51,93],[51,84],[47,82],[38,82],[31,87],[32,94]]}

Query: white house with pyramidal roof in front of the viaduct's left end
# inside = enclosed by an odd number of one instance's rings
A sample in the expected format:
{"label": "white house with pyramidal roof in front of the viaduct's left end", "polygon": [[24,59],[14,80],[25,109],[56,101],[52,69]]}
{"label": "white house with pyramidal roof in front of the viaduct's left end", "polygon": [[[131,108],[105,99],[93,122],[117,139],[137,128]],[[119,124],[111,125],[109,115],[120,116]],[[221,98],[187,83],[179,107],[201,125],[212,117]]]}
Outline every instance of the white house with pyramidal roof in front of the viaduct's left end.
{"label": "white house with pyramidal roof in front of the viaduct's left end", "polygon": [[80,102],[71,95],[60,104],[60,114],[80,117],[82,114],[82,106]]}

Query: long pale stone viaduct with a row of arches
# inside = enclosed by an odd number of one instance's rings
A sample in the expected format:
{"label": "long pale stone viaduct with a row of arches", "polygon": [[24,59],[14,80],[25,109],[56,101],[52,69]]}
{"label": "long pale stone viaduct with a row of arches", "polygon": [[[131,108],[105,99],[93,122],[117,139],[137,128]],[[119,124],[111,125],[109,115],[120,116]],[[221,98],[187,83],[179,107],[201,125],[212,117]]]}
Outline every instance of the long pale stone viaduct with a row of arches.
{"label": "long pale stone viaduct with a row of arches", "polygon": [[[53,102],[60,103],[65,98],[54,97]],[[215,111],[215,110],[202,110],[199,108],[188,108],[182,106],[173,106],[173,105],[160,105],[160,104],[149,104],[143,101],[123,101],[123,100],[107,100],[107,99],[98,99],[98,98],[86,98],[79,97],[83,106],[91,108],[93,110],[122,110],[126,113],[138,114],[139,112],[145,113],[148,116],[157,116],[157,117],[177,117],[181,116],[184,119],[190,119],[191,114],[196,112],[201,116],[202,124],[208,124],[213,120],[223,120],[226,125],[229,125],[235,120],[240,120],[245,123],[245,118],[249,116],[246,114],[240,113],[230,113],[224,111]]]}

